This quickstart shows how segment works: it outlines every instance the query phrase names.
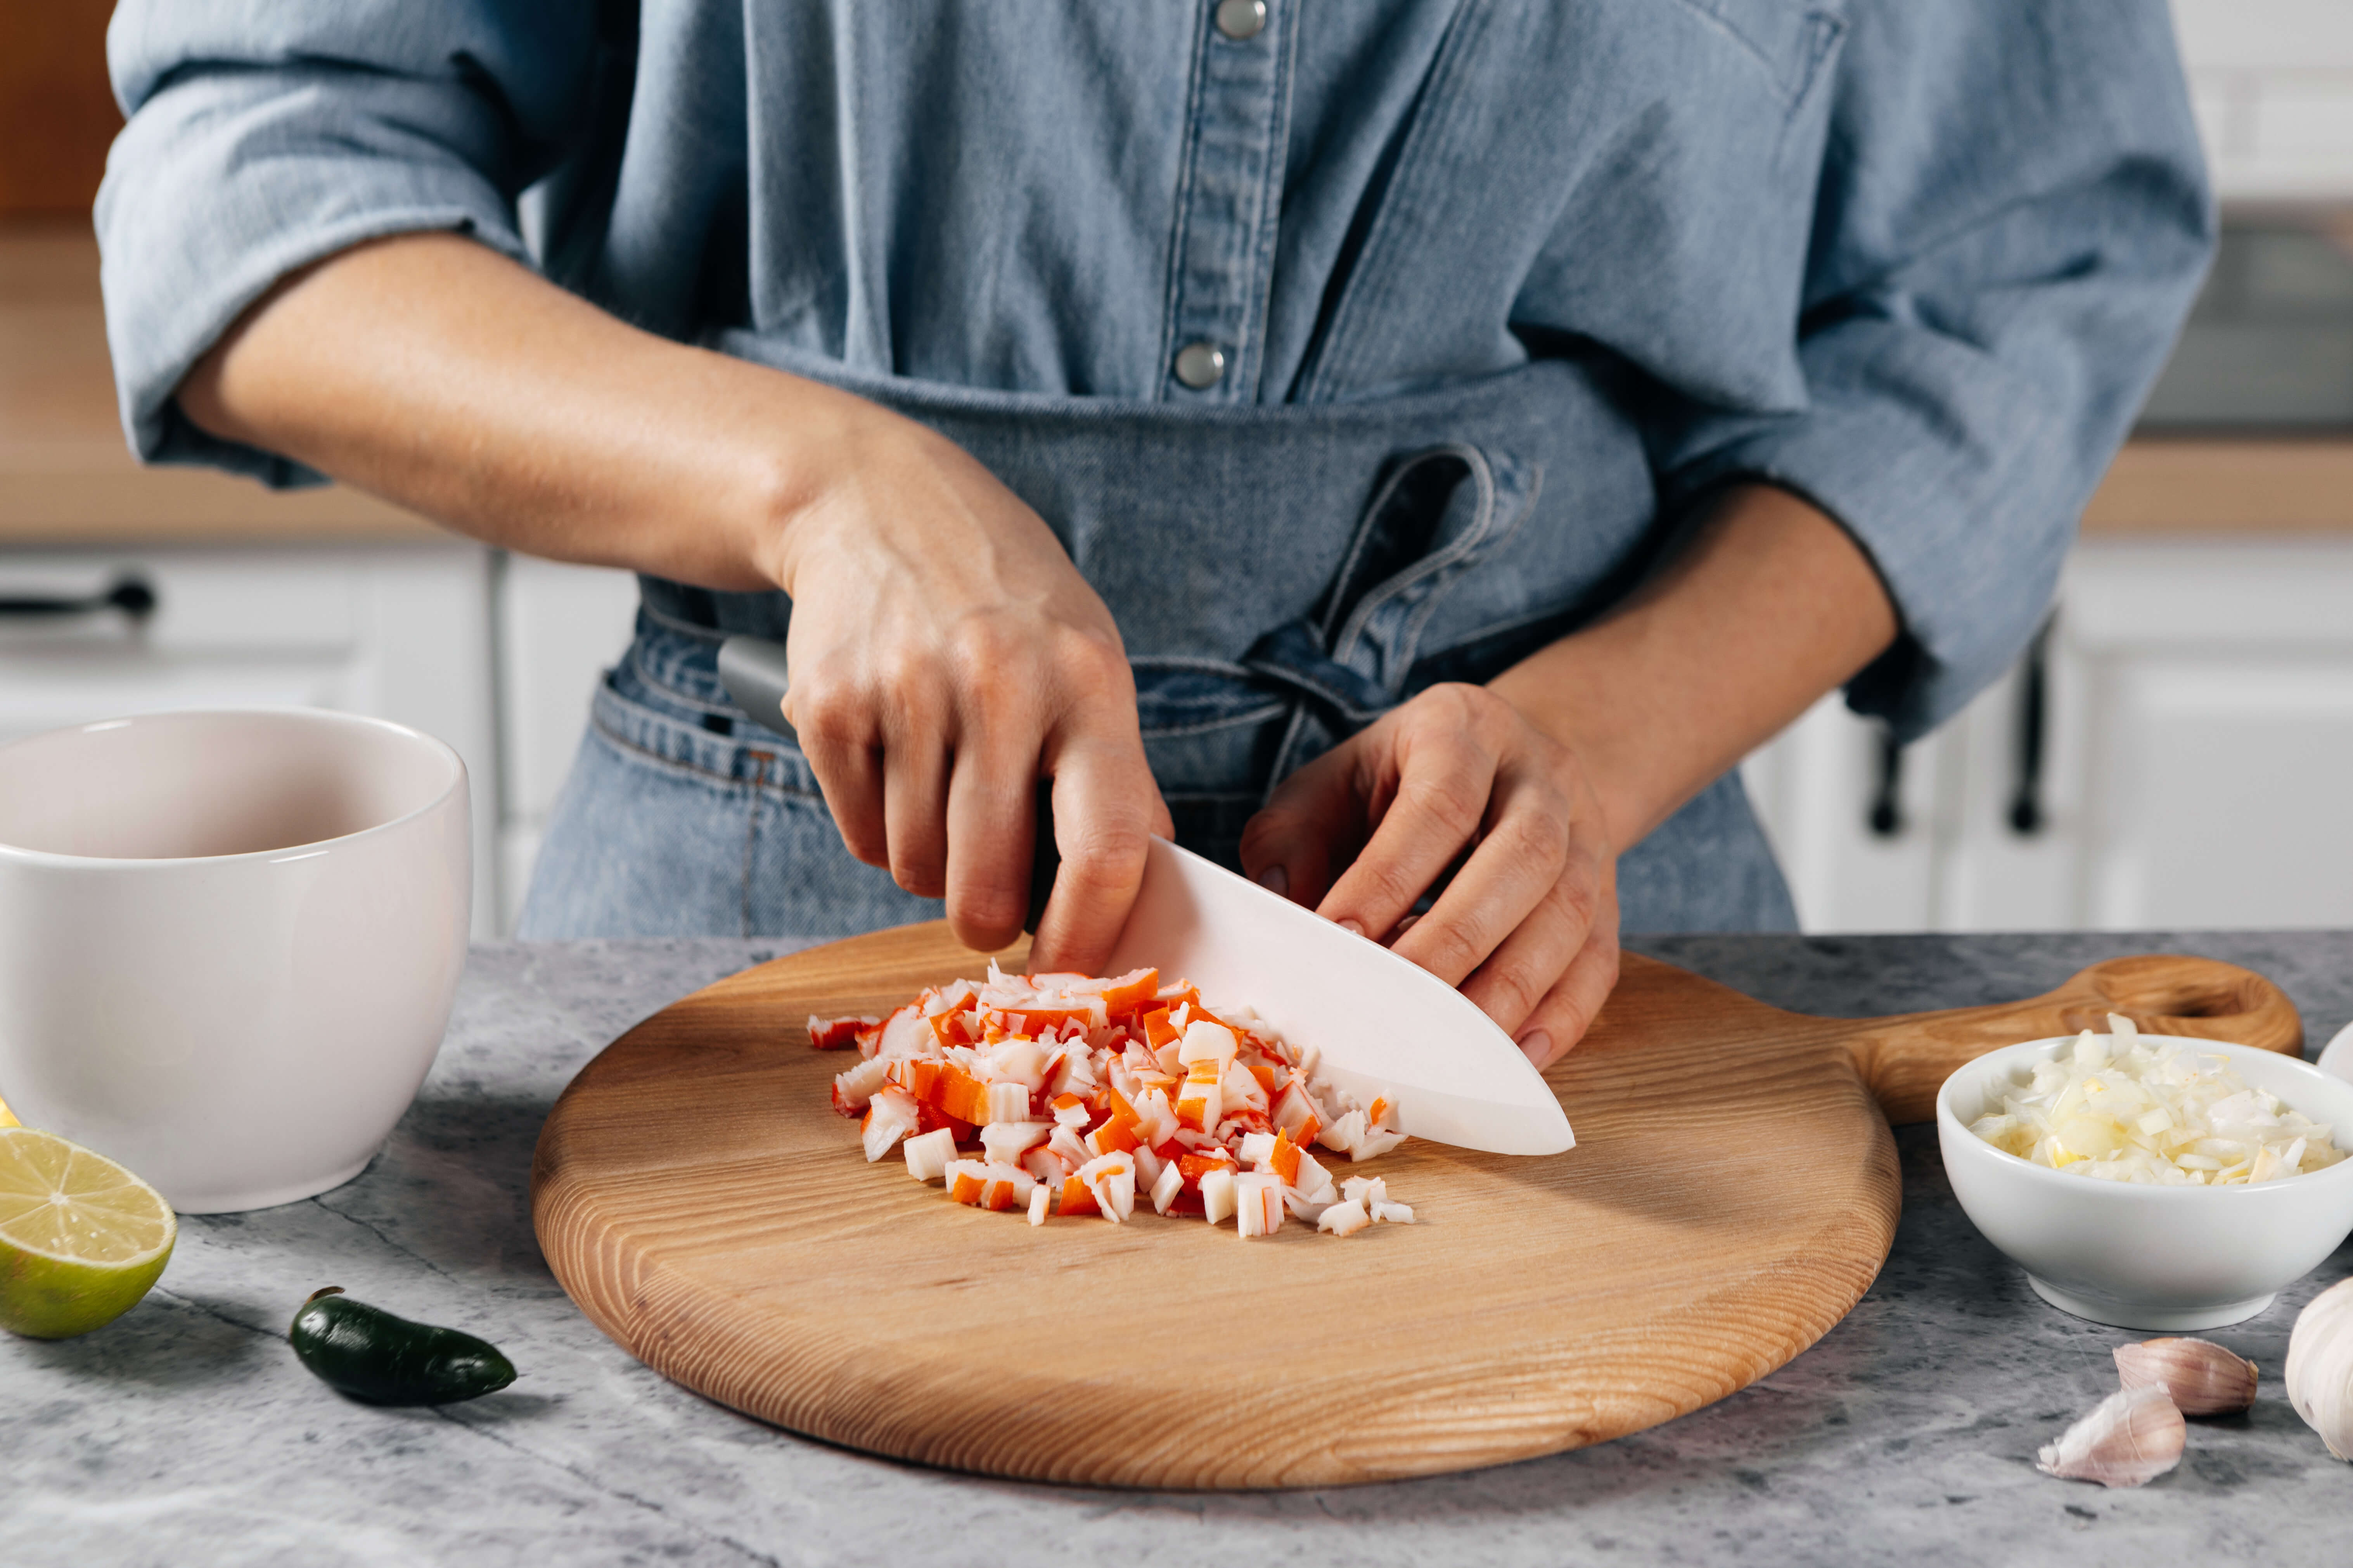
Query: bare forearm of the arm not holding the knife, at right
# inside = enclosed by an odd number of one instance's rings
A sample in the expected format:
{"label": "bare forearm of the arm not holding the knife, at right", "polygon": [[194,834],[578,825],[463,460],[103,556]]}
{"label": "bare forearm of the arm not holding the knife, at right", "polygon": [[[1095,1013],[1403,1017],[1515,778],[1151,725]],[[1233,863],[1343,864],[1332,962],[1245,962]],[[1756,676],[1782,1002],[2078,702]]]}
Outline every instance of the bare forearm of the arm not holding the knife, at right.
{"label": "bare forearm of the arm not holding the knife, at right", "polygon": [[1624,851],[1894,635],[1887,590],[1845,529],[1784,489],[1741,484],[1626,604],[1492,689],[1579,755]]}

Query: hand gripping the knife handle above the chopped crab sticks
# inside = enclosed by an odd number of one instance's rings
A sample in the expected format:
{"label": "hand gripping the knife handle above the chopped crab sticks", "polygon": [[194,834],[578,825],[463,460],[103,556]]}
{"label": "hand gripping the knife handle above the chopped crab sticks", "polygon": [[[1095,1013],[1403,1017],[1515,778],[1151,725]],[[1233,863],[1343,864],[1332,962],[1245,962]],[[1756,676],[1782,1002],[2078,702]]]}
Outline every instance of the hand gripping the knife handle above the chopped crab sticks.
{"label": "hand gripping the knife handle above the chopped crab sticks", "polygon": [[1035,783],[1061,870],[1033,966],[1094,973],[1174,837],[1144,762],[1134,675],[1061,541],[946,437],[873,409],[774,534],[793,597],[784,717],[842,842],[948,900],[969,947],[1028,910]]}

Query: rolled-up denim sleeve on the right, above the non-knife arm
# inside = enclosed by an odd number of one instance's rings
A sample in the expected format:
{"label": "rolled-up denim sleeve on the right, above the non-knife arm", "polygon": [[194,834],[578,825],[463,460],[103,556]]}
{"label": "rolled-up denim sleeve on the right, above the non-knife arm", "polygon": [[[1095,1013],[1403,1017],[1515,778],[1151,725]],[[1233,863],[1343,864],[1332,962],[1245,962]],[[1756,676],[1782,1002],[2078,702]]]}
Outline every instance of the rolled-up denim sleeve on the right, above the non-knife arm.
{"label": "rolled-up denim sleeve on the right, above the non-knife arm", "polygon": [[2214,216],[2155,0],[1859,0],[1835,92],[1807,407],[1692,416],[1661,480],[1772,480],[1857,538],[1904,630],[1847,703],[1911,738],[2040,623]]}

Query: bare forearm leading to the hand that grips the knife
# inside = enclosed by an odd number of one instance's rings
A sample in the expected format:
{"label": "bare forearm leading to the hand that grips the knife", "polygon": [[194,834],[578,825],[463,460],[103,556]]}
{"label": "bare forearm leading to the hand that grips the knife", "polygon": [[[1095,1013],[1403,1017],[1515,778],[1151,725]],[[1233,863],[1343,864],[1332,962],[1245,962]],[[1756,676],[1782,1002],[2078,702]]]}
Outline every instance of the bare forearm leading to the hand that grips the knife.
{"label": "bare forearm leading to the hand that grips the knife", "polygon": [[179,404],[478,538],[727,590],[786,581],[774,524],[880,416],[638,331],[442,233],[294,275],[198,362]]}

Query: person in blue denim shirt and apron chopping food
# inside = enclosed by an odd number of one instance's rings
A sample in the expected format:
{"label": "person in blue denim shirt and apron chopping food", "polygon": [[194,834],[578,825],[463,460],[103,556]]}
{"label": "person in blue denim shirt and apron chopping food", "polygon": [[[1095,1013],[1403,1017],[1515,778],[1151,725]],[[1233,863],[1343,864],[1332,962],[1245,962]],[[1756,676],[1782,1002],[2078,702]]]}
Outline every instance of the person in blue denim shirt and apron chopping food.
{"label": "person in blue denim shirt and apron chopping food", "polygon": [[1795,924],[1751,748],[2007,665],[2214,230],[2155,2],[125,0],[111,63],[144,458],[640,574],[522,936],[998,947],[1049,780],[1040,966],[1172,835],[1539,1065],[1621,926]]}

